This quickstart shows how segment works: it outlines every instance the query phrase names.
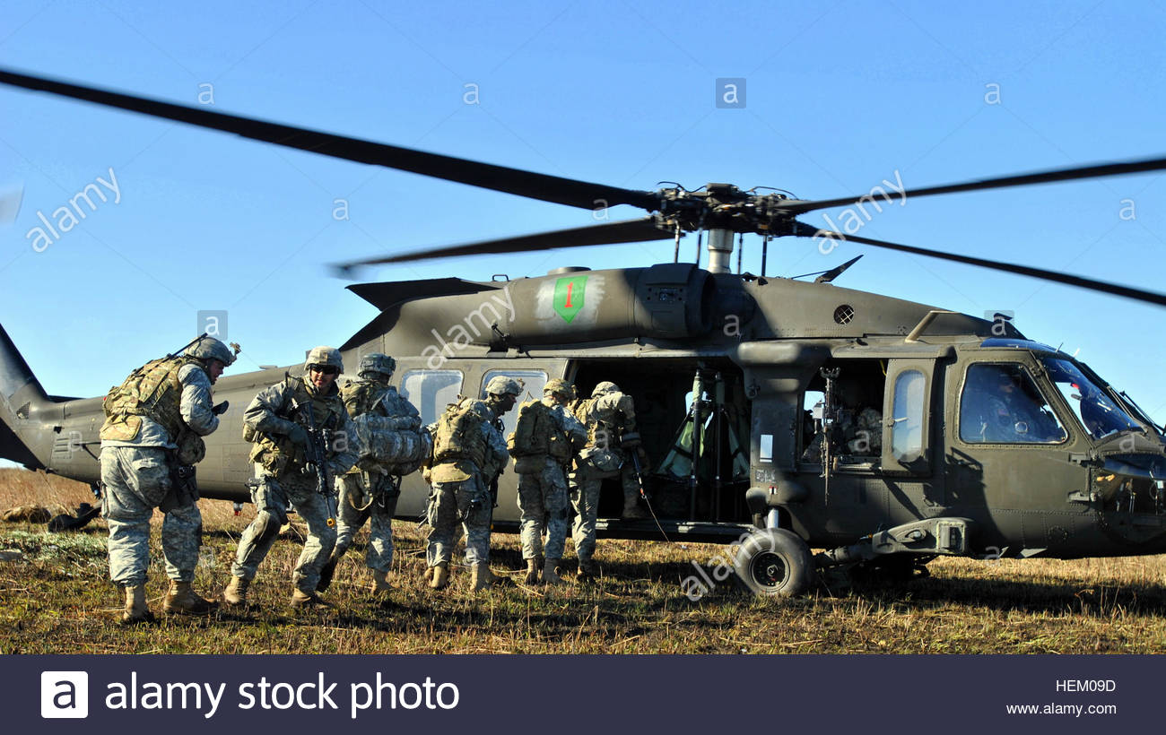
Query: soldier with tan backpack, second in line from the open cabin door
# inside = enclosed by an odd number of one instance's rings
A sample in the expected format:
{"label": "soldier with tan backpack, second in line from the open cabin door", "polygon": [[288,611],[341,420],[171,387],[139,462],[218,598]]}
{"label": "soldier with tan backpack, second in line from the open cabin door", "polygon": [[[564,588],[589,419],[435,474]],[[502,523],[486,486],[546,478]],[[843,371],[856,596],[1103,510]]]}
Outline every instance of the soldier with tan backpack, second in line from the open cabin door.
{"label": "soldier with tan backpack, second in line from the open cabin door", "polygon": [[[507,446],[514,457],[518,507],[522,513],[522,558],[526,581],[562,582],[555,571],[567,544],[567,475],[564,467],[586,444],[586,429],[563,407],[575,398],[575,388],[555,377],[542,389],[542,401],[519,409],[518,424]],[[547,558],[542,560],[542,533],[547,533]]]}

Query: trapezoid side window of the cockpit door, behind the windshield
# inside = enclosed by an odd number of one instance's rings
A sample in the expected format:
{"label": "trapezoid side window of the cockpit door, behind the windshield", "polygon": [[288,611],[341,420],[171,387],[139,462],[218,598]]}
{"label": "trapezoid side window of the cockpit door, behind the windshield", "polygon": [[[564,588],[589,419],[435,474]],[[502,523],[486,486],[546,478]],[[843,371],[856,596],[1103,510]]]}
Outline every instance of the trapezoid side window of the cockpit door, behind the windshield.
{"label": "trapezoid side window of the cockpit door, behind the windshield", "polygon": [[1068,438],[1024,366],[968,368],[960,396],[960,438],[969,444],[1054,444]]}

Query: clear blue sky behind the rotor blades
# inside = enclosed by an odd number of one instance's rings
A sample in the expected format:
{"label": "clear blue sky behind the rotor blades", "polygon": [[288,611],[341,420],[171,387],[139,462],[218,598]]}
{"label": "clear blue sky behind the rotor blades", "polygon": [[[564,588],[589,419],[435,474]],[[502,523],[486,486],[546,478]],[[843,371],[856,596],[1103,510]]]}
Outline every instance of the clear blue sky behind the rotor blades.
{"label": "clear blue sky behind the rotor blades", "polygon": [[[0,65],[189,105],[210,91],[222,112],[632,189],[731,182],[817,199],[897,172],[918,188],[1163,155],[1163,37],[1166,6],[1153,2],[8,0]],[[725,77],[746,80],[743,109],[715,106]],[[120,200],[36,252],[37,212],[110,169]],[[0,321],[50,393],[80,396],[180,347],[199,310],[227,311],[227,335],[244,346],[234,370],[344,342],[375,312],[326,263],[591,221],[0,89],[0,192],[17,186],[19,215],[0,225]],[[1151,174],[908,199],[861,234],[1163,291],[1164,193]],[[333,218],[337,199],[346,220]],[[638,215],[624,210],[612,219]],[[694,248],[686,239],[682,254]],[[756,273],[759,241],[745,248]],[[1077,352],[1166,419],[1163,309],[855,245],[823,256],[809,240],[771,245],[768,273],[858,253],[841,285],[972,315],[1011,310],[1027,335]],[[612,246],[364,280],[670,257],[670,242]]]}

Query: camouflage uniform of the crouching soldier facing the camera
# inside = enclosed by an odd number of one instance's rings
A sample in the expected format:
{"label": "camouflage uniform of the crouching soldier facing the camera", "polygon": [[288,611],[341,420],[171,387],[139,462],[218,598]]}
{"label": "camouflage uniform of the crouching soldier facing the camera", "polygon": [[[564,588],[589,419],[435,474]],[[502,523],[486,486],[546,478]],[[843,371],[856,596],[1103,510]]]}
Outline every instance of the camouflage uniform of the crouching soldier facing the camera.
{"label": "camouflage uniform of the crouching soldier facing the camera", "polygon": [[[317,349],[312,349],[312,354]],[[307,466],[303,447],[290,439],[297,427],[307,429],[305,411],[297,410],[296,404],[310,404],[316,426],[332,431],[332,451],[326,458],[331,476],[344,474],[357,461],[356,427],[335,382],[326,394],[319,395],[304,377],[287,376],[259,391],[243,416],[245,432],[253,432],[257,441],[251,454],[255,462],[251,495],[258,513],[239,539],[231,574],[247,582],[254,579],[280,528],[287,523],[292,507],[308,524],[308,540],[292,573],[292,582],[304,598],[316,600],[319,570],[336,544],[336,529],[329,525],[333,518],[331,496],[317,492],[317,476]],[[231,601],[229,595],[224,596]]]}

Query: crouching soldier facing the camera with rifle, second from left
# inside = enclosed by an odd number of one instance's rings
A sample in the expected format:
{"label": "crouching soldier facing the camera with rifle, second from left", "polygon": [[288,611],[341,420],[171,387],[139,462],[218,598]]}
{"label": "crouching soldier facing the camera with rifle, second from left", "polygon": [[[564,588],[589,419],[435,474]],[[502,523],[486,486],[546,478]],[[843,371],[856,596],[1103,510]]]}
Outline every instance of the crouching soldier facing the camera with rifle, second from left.
{"label": "crouching soldier facing the camera with rifle, second from left", "polygon": [[[280,526],[287,523],[288,506],[308,524],[308,540],[292,573],[292,605],[326,605],[316,594],[316,586],[336,544],[330,479],[347,472],[357,460],[356,427],[336,387],[343,369],[339,351],[316,347],[308,353],[302,377],[286,375],[260,390],[243,415],[244,438],[254,441],[251,460],[255,479],[250,485],[258,513],[239,538],[231,582],[223,591],[227,605],[247,605],[251,580]],[[315,448],[322,451],[324,467],[310,460]]]}

